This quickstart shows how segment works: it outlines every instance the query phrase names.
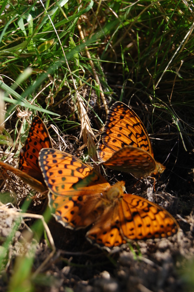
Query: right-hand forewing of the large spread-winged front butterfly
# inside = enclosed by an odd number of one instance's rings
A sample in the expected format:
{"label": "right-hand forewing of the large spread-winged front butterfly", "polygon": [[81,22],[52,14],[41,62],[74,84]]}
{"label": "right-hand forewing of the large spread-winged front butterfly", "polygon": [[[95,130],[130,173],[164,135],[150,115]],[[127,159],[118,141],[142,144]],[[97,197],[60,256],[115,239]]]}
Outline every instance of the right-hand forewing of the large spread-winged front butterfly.
{"label": "right-hand forewing of the large spread-winged front butterfly", "polygon": [[120,206],[125,239],[161,238],[174,235],[179,225],[165,209],[137,195],[125,194]]}

